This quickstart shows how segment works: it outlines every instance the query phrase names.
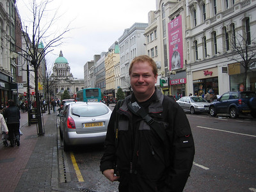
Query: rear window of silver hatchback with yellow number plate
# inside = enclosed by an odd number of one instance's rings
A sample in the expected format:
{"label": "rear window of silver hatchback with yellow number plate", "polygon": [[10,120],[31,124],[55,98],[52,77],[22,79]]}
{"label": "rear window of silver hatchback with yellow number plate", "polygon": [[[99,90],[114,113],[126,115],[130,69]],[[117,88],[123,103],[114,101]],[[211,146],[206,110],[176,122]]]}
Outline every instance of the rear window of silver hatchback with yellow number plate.
{"label": "rear window of silver hatchback with yellow number plate", "polygon": [[86,106],[73,106],[71,109],[72,115],[77,116],[100,116],[107,114],[109,109],[104,105],[86,105]]}

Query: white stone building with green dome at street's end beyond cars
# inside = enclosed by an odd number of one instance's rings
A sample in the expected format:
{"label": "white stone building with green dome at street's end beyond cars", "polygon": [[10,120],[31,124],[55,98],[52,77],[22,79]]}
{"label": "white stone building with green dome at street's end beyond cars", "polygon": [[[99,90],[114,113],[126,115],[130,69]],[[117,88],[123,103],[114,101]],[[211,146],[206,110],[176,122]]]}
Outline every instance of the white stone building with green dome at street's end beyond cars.
{"label": "white stone building with green dome at street's end beyond cars", "polygon": [[70,73],[68,61],[63,57],[62,51],[60,51],[60,56],[55,60],[54,67],[52,67],[51,80],[51,95],[54,99],[61,99],[61,95],[65,90],[69,92],[70,97],[74,97],[77,91],[84,88],[84,79],[73,77],[72,73]]}

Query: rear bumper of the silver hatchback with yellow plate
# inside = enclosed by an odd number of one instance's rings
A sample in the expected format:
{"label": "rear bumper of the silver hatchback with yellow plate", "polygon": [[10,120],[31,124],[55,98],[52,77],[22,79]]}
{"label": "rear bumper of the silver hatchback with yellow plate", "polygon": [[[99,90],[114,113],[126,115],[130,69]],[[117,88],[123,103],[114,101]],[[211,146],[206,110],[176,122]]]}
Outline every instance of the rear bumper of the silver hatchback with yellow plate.
{"label": "rear bumper of the silver hatchback with yellow plate", "polygon": [[65,140],[67,145],[87,145],[104,143],[107,132],[95,132],[87,134],[77,134],[77,132],[68,132],[68,138]]}

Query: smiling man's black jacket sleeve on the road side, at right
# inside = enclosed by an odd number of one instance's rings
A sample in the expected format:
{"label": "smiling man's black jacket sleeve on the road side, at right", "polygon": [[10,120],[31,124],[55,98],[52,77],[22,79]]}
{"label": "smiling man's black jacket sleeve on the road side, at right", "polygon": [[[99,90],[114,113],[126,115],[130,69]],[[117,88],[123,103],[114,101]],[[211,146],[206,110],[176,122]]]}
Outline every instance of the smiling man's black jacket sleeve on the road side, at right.
{"label": "smiling man's black jacket sleeve on the road side, at right", "polygon": [[188,118],[183,109],[174,104],[170,113],[172,143],[170,143],[171,164],[169,167],[166,188],[163,191],[183,191],[193,165],[195,144]]}

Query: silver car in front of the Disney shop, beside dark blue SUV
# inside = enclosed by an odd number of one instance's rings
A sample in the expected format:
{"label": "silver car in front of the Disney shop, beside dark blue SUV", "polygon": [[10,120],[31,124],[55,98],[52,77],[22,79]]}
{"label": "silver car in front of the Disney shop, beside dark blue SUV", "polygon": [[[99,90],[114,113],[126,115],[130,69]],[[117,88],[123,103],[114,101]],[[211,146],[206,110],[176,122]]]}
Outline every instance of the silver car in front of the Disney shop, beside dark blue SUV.
{"label": "silver car in front of the Disney shop, beside dark blue SUV", "polygon": [[189,111],[191,114],[209,112],[210,104],[202,97],[181,97],[177,103],[184,111]]}

